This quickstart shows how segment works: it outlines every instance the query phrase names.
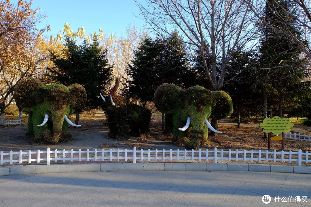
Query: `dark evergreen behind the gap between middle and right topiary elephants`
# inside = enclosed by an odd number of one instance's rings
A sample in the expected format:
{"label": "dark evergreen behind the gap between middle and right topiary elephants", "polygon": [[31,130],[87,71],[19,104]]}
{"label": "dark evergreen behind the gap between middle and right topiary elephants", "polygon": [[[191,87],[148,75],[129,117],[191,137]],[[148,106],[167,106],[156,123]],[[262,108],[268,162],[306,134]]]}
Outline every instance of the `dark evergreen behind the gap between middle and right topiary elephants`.
{"label": "dark evergreen behind the gap between middle and right topiary elephants", "polygon": [[[181,52],[184,44],[176,33],[172,36],[152,40],[146,37],[134,52],[134,60],[128,64],[126,88],[127,97],[142,101],[152,101],[156,88],[163,83],[175,83],[183,86],[182,75],[189,70],[187,56]],[[174,45],[174,48],[172,47]]]}

